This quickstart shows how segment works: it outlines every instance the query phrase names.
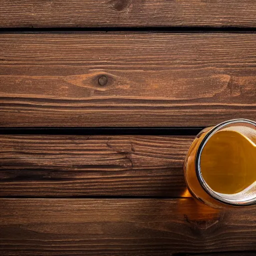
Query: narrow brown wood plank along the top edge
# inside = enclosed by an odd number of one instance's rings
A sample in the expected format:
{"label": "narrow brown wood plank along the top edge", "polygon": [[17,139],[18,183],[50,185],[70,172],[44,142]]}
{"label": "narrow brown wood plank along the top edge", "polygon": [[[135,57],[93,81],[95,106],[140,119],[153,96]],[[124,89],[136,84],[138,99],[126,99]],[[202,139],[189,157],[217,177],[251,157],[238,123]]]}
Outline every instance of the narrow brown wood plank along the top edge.
{"label": "narrow brown wood plank along the top edge", "polygon": [[254,0],[1,0],[1,27],[256,26]]}

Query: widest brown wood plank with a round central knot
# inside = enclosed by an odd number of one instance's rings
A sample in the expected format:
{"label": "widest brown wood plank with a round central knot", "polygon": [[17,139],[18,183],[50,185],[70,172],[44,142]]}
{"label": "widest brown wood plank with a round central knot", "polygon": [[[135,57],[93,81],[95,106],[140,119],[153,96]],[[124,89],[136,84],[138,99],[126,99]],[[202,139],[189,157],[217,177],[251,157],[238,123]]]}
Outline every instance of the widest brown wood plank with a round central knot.
{"label": "widest brown wood plank with a round central knot", "polygon": [[256,116],[256,34],[1,34],[1,126],[207,126]]}

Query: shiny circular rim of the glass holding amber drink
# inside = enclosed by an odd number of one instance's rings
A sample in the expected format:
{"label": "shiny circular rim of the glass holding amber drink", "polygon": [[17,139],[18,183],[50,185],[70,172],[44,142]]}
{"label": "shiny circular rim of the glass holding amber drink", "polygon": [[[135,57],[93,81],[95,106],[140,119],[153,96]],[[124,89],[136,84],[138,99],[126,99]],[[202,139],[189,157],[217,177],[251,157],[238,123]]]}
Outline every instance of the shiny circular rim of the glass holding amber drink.
{"label": "shiny circular rim of the glass holding amber drink", "polygon": [[[226,204],[230,204],[230,205],[236,205],[236,206],[244,206],[244,205],[251,205],[256,203],[256,195],[253,198],[250,199],[245,199],[245,200],[231,200],[228,198],[224,198],[220,195],[218,195],[217,192],[215,192],[213,189],[210,188],[210,186],[205,182],[205,180],[202,177],[201,174],[201,167],[200,167],[200,160],[201,160],[201,153],[202,153],[202,149],[204,148],[205,144],[207,143],[208,139],[218,130],[220,130],[221,128],[223,128],[224,126],[228,125],[228,124],[232,124],[232,123],[248,123],[251,125],[254,125],[256,127],[256,122],[249,120],[249,119],[231,119],[231,120],[227,120],[224,122],[221,122],[219,124],[217,124],[216,126],[212,127],[204,136],[204,138],[202,139],[202,141],[200,142],[197,151],[196,151],[196,155],[195,155],[195,173],[196,173],[196,177],[201,185],[201,187],[204,189],[204,191],[210,195],[211,197],[213,197],[214,199],[216,199],[217,201],[220,201],[222,203],[226,203]],[[200,133],[199,133],[200,134]]]}

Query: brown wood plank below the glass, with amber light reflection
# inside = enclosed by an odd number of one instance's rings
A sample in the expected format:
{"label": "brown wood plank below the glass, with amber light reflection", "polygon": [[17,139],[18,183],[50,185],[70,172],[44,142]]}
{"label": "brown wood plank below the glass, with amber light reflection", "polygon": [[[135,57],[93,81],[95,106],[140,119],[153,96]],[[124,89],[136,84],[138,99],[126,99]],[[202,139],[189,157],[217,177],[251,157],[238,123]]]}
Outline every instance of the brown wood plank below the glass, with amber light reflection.
{"label": "brown wood plank below the glass, with amber light reflection", "polygon": [[0,199],[2,255],[256,250],[256,207],[183,199]]}

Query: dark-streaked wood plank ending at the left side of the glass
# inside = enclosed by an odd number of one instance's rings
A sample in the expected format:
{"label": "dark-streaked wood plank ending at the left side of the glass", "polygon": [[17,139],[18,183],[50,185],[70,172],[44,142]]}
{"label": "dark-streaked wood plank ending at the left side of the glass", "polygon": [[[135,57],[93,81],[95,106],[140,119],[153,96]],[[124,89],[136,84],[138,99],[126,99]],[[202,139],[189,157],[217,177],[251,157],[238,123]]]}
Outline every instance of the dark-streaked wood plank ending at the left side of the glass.
{"label": "dark-streaked wood plank ending at the left side of the glass", "polygon": [[0,135],[0,195],[187,196],[193,138]]}

